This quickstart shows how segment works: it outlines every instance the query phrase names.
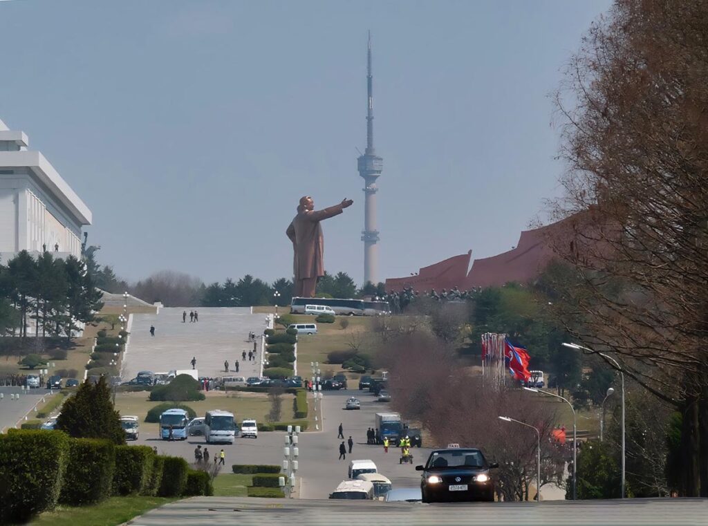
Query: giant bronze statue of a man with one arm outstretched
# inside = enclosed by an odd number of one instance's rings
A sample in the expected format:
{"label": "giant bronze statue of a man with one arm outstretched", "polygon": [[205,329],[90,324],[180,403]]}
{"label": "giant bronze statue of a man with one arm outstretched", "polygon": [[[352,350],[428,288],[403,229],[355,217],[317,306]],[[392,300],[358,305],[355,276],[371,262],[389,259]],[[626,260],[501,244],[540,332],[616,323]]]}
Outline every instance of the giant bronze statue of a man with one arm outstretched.
{"label": "giant bronze statue of a man with one arm outstretched", "polygon": [[295,272],[296,297],[314,297],[317,278],[324,276],[324,236],[319,222],[334,217],[350,207],[353,201],[345,199],[338,205],[314,210],[314,201],[309,195],[300,199],[297,215],[292,219],[285,234],[292,241],[295,251],[293,270]]}

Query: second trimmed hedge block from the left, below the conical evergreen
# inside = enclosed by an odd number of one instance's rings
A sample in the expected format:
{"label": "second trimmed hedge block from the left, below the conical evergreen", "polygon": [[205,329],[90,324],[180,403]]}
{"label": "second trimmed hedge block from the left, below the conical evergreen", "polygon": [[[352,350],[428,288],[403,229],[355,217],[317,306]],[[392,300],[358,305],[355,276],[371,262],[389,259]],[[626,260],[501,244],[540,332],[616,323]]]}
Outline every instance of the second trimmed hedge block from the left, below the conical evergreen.
{"label": "second trimmed hedge block from the left, below the conical evergreen", "polygon": [[72,438],[69,463],[59,502],[74,506],[110,497],[115,469],[115,445],[110,440]]}

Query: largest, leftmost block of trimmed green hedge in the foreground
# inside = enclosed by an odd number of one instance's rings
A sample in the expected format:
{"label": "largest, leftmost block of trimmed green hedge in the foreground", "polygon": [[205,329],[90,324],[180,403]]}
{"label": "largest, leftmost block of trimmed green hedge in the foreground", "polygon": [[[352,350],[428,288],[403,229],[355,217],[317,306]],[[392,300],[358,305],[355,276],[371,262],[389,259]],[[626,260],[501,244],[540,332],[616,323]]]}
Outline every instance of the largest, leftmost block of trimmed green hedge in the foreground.
{"label": "largest, leftmost block of trimmed green hedge in the foreground", "polygon": [[69,459],[59,431],[16,430],[0,435],[0,522],[27,522],[57,505]]}

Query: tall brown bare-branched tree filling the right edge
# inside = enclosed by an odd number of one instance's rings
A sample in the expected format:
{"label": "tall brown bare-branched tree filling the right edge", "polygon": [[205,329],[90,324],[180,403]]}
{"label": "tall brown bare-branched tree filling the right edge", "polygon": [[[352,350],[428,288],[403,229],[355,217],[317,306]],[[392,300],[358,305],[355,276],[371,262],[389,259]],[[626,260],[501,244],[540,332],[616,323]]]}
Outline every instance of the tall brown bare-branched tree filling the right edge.
{"label": "tall brown bare-branched tree filling the right edge", "polygon": [[[686,496],[708,496],[708,6],[617,0],[556,98],[559,314],[683,413]],[[566,101],[571,101],[566,104]]]}

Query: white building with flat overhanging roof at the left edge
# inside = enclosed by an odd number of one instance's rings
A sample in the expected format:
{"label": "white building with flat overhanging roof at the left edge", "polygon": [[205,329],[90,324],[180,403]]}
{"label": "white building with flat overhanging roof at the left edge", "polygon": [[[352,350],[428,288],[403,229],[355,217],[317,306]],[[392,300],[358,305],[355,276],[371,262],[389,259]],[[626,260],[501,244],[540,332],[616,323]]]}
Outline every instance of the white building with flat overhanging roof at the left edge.
{"label": "white building with flat overhanging roof at the left edge", "polygon": [[81,228],[91,210],[23,132],[0,120],[0,261],[19,251],[81,256]]}

